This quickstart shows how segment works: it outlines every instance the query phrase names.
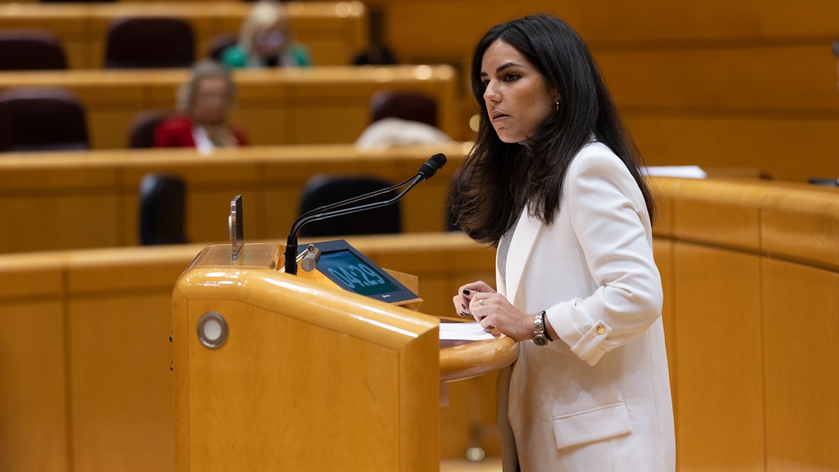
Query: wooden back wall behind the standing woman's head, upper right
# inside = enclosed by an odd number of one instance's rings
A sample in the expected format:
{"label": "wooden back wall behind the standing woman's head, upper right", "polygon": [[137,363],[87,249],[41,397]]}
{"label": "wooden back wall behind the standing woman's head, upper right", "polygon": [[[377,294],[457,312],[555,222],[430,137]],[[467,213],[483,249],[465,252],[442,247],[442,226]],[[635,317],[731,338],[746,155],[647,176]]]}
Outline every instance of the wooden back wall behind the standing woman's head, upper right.
{"label": "wooden back wall behind the standing woman's head, upper right", "polygon": [[461,71],[463,118],[475,113],[466,72],[481,35],[509,18],[550,12],[590,46],[650,165],[751,167],[789,181],[839,176],[830,48],[839,6],[831,0],[367,4],[385,13],[400,59]]}

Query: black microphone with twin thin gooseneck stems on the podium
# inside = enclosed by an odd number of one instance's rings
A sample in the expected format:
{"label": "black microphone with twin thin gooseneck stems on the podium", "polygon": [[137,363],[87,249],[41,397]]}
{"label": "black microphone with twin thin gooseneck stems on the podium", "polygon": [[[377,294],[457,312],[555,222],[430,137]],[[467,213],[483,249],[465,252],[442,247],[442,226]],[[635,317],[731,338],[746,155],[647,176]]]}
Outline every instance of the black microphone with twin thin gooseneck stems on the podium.
{"label": "black microphone with twin thin gooseneck stems on the podium", "polygon": [[[404,197],[408,191],[410,191],[414,186],[416,186],[421,181],[425,181],[430,179],[432,176],[437,173],[443,165],[446,165],[446,155],[442,153],[438,153],[432,155],[429,160],[425,161],[423,165],[420,165],[420,170],[417,171],[416,175],[409,178],[407,181],[399,183],[395,186],[389,186],[387,188],[383,188],[377,191],[371,191],[369,193],[365,193],[363,195],[359,195],[358,197],[347,198],[347,200],[343,200],[341,202],[331,203],[329,205],[324,205],[323,207],[317,207],[309,212],[305,212],[300,217],[298,217],[294,224],[291,226],[291,231],[289,232],[289,239],[287,244],[285,245],[285,273],[291,275],[297,275],[297,234],[300,233],[300,228],[306,223],[310,223],[313,221],[319,221],[321,219],[326,218],[333,218],[341,215],[347,215],[350,213],[355,212],[363,212],[365,210],[372,210],[373,208],[379,207],[386,207],[391,205],[395,202],[398,202],[399,199]],[[355,202],[361,202],[362,200],[367,200],[372,197],[378,197],[384,193],[388,193],[389,191],[393,191],[398,189],[401,186],[408,185],[399,195],[393,197],[389,200],[383,200],[381,202],[373,202],[367,203],[364,205],[359,205],[357,207],[347,207],[347,205],[351,205]],[[342,208],[347,207],[347,208]],[[336,209],[338,208],[338,209]]]}

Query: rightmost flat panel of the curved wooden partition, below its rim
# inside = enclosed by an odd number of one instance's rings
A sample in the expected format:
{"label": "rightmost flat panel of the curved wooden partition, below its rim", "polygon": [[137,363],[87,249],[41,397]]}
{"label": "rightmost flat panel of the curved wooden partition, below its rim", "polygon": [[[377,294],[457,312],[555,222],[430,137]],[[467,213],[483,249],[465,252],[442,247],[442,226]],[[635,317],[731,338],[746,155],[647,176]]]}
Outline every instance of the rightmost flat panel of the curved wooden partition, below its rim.
{"label": "rightmost flat panel of the curved wooden partition, below its rim", "polygon": [[839,274],[763,262],[768,472],[839,469]]}

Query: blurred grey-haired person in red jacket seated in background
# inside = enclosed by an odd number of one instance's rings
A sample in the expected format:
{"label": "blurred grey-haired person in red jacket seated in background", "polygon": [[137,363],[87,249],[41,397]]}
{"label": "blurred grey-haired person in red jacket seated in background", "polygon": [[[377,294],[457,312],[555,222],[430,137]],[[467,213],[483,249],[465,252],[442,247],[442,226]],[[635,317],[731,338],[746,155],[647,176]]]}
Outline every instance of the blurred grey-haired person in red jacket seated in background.
{"label": "blurred grey-haired person in red jacket seated in background", "polygon": [[180,114],[158,125],[154,147],[194,147],[208,153],[217,147],[245,145],[244,134],[227,123],[235,98],[236,84],[224,66],[214,60],[196,63],[190,81],[178,89]]}

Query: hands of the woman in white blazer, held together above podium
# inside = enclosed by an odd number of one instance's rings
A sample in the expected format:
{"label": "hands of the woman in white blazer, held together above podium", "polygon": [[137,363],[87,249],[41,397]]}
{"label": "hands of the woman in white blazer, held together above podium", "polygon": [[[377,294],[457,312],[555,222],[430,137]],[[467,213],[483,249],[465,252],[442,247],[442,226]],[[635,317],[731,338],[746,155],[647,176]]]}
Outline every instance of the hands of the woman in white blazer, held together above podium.
{"label": "hands of the woman in white blazer, held together above podium", "polygon": [[498,328],[516,341],[533,338],[533,315],[513,307],[507,297],[492,290],[485,282],[461,286],[452,301],[461,317],[472,315],[483,328]]}

